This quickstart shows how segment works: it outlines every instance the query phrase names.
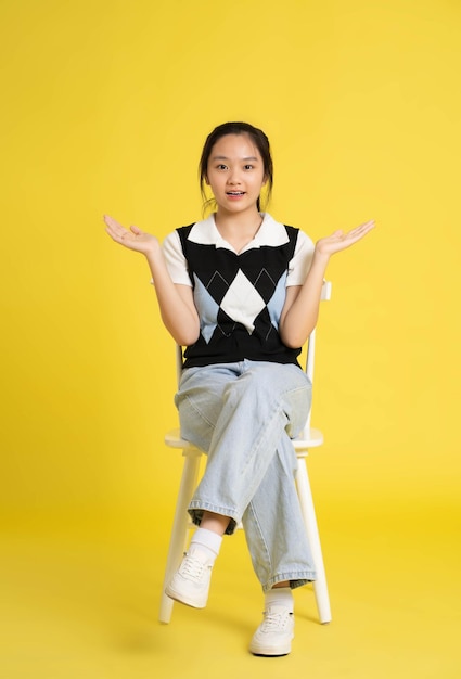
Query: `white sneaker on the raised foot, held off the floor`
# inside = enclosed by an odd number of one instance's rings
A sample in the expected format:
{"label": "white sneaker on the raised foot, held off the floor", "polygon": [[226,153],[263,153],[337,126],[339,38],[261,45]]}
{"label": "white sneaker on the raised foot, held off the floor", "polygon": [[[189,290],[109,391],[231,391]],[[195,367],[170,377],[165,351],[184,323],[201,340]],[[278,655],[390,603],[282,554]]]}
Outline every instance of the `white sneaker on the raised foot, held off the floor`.
{"label": "white sneaker on the raised foot, held off the floor", "polygon": [[197,550],[193,554],[185,553],[181,565],[165,589],[166,594],[193,608],[204,608],[208,600],[213,560],[206,554]]}

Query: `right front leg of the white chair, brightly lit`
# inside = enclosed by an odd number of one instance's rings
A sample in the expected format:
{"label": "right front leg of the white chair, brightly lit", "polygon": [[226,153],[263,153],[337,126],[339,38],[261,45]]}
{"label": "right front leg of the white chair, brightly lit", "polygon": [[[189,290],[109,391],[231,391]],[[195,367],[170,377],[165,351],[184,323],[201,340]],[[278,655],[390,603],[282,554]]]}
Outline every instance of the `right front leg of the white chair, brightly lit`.
{"label": "right front leg of the white chair, brightly lit", "polygon": [[330,598],[323,565],[322,548],[320,546],[319,529],[317,527],[316,510],[313,508],[312,494],[310,490],[305,458],[298,458],[296,487],[306,524],[307,537],[312,552],[313,565],[317,572],[317,580],[313,582],[317,608],[319,611],[320,623],[324,625],[325,623],[331,622]]}

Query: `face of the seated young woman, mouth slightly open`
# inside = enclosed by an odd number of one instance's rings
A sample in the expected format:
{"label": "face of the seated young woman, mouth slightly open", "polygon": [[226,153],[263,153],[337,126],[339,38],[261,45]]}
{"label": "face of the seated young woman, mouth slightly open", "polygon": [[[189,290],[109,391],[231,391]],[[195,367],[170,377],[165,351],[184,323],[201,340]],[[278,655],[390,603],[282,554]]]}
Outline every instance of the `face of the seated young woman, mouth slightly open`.
{"label": "face of the seated young woman, mouth slightly open", "polygon": [[266,177],[261,155],[248,134],[226,134],[215,143],[208,158],[206,182],[218,212],[256,209]]}

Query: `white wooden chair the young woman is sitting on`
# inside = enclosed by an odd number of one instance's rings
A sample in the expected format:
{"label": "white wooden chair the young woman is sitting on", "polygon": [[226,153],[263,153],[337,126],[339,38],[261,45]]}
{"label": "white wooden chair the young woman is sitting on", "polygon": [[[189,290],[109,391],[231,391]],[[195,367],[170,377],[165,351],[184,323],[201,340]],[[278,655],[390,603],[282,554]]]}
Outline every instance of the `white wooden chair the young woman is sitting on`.
{"label": "white wooden chair the young woman is sitting on", "polygon": [[[331,283],[325,281],[322,287],[322,299],[331,298]],[[313,363],[316,354],[316,330],[310,333],[307,345],[306,373],[313,384]],[[182,349],[177,347],[177,374],[178,379],[182,370]],[[323,435],[319,430],[310,426],[310,414],[308,414],[304,432],[293,440],[296,456],[298,459],[298,470],[296,474],[296,488],[299,498],[299,504],[303,511],[306,524],[306,533],[312,553],[313,564],[317,572],[317,580],[313,582],[313,591],[319,613],[320,623],[326,624],[331,622],[330,598],[326,587],[325,569],[323,566],[322,549],[320,546],[319,530],[317,527],[316,511],[313,508],[312,494],[310,490],[309,477],[307,474],[307,456],[310,448],[317,448],[323,444]],[[167,563],[165,568],[165,578],[162,591],[159,620],[161,623],[169,623],[171,619],[174,601],[165,593],[165,588],[170,581],[175,571],[181,562],[188,531],[191,529],[192,523],[188,514],[189,502],[197,485],[199,469],[202,450],[193,444],[181,438],[179,428],[168,432],[165,436],[165,443],[171,448],[182,449],[184,456],[184,466],[182,471],[181,483],[179,487],[178,501],[176,504],[175,518],[171,529],[171,538],[168,549]]]}

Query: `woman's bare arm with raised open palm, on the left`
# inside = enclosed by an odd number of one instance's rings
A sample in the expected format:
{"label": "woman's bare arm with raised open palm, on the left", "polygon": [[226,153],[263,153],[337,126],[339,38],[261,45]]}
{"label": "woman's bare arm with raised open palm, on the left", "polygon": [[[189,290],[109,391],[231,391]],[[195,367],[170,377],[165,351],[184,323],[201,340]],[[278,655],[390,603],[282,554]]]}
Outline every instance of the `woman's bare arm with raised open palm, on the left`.
{"label": "woman's bare arm with raised open palm, on the left", "polygon": [[138,227],[125,229],[108,216],[104,216],[104,221],[106,232],[113,241],[145,256],[151,269],[162,320],[175,342],[182,346],[196,342],[200,335],[200,321],[192,287],[172,282],[158,239],[141,231]]}

